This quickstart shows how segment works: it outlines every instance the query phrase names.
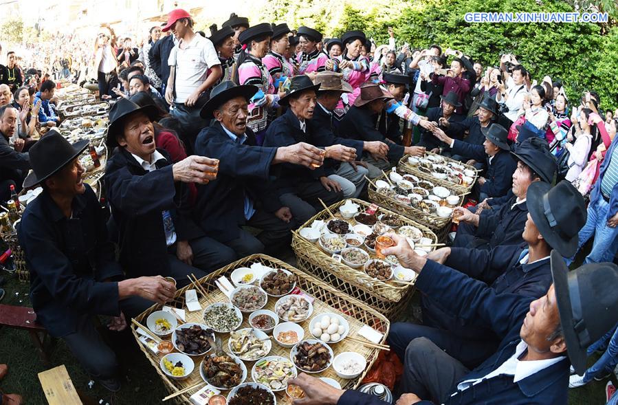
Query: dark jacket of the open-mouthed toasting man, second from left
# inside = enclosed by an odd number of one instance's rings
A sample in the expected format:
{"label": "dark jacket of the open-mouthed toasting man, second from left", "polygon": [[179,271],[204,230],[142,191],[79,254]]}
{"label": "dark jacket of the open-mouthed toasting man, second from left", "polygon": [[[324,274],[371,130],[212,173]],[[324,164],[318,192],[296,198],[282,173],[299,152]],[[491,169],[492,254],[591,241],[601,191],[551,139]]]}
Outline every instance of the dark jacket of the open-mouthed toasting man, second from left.
{"label": "dark jacket of the open-mouthed toasting man, second from left", "polygon": [[144,170],[122,147],[116,148],[105,170],[107,201],[119,230],[120,263],[131,276],[155,276],[169,270],[164,210],[170,211],[177,241],[203,236],[191,219],[188,186],[174,182],[167,152],[157,151],[166,160],[159,160],[155,171]]}

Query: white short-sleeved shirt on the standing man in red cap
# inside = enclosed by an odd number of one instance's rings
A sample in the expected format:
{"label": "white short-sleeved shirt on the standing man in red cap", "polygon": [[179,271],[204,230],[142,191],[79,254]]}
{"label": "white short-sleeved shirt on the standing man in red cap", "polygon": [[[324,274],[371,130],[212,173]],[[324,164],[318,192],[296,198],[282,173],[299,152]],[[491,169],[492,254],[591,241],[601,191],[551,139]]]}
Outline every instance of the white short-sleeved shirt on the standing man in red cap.
{"label": "white short-sleeved shirt on the standing man in red cap", "polygon": [[208,69],[214,65],[221,65],[217,51],[210,39],[200,34],[195,34],[193,40],[183,46],[181,40],[172,48],[168,65],[176,67],[175,89],[176,99],[174,102],[182,103],[208,77]]}

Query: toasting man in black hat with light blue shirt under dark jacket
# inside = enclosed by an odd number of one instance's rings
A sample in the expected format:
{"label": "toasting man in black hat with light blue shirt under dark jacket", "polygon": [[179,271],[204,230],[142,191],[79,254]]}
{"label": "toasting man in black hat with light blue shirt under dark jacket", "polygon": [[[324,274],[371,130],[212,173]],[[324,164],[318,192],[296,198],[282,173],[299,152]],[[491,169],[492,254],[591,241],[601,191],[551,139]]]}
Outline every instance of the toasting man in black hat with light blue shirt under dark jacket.
{"label": "toasting man in black hat with light blue shirt under dark jacket", "polygon": [[[257,146],[247,127],[252,85],[226,81],[212,90],[202,109],[203,118],[217,120],[199,133],[195,150],[220,160],[217,179],[200,186],[195,217],[209,237],[219,241],[219,252],[241,258],[266,252],[274,254],[289,245],[296,228],[290,209],[278,199],[273,181],[282,163],[312,169],[322,164],[322,151],[307,143],[278,148]],[[256,237],[243,230],[261,230]]]}

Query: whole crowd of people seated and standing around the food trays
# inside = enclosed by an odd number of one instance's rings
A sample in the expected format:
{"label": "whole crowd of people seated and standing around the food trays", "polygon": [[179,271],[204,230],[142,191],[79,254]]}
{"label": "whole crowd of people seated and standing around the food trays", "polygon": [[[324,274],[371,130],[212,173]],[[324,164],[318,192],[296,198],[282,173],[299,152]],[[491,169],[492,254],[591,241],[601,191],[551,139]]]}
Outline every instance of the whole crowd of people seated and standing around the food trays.
{"label": "whole crowd of people seated and standing around the food trays", "polygon": [[[120,331],[189,274],[281,256],[320,200],[366,198],[368,179],[427,151],[480,175],[448,247],[421,257],[392,234],[384,251],[423,293],[422,322],[388,334],[404,363],[397,404],[566,404],[568,386],[610,375],[618,120],[593,89],[569,100],[513,54],[485,67],[436,44],[397,45],[392,29],[379,47],[358,30],[328,39],[236,14],[209,31],[177,9],[142,44],[101,27],[87,56],[60,59],[54,78],[96,76],[112,104],[104,205],[82,181],[88,141],[56,129],[53,78],[23,72],[10,50],[0,66],[0,197],[43,187],[18,229],[32,306],[89,375],[120,389],[93,316]],[[56,57],[38,51],[47,65]],[[578,252],[584,265],[569,271]],[[307,394],[299,405],[385,404],[304,373],[292,382]]]}

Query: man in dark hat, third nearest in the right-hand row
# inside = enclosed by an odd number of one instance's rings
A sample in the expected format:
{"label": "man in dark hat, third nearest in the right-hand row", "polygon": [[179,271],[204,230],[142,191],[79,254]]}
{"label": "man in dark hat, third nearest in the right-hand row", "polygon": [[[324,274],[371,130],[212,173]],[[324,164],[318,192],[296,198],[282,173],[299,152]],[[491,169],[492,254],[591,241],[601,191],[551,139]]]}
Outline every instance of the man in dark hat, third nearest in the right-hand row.
{"label": "man in dark hat, third nearest in the right-hand row", "polygon": [[547,142],[540,138],[522,142],[511,154],[517,161],[513,187],[504,197],[486,199],[470,209],[456,208],[460,217],[454,247],[491,249],[522,243],[521,231],[528,215],[524,204],[528,187],[538,181],[551,184],[556,160]]}

